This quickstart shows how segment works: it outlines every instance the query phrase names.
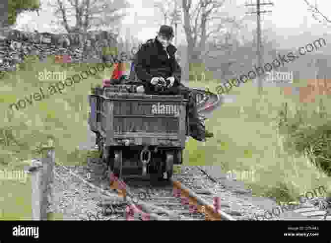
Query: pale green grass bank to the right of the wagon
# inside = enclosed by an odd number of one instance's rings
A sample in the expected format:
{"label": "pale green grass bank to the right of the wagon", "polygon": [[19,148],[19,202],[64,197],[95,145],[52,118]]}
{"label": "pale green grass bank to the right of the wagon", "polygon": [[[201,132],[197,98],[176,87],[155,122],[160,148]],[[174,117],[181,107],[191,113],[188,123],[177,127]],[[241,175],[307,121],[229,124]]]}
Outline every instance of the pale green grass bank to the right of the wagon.
{"label": "pale green grass bank to the right of the wagon", "polygon": [[[217,84],[216,80],[199,83],[199,87],[204,85],[215,91]],[[273,197],[277,202],[296,201],[300,194],[320,186],[331,191],[331,178],[298,147],[291,146],[292,134],[284,131],[285,125],[280,126],[285,103],[287,124],[298,120],[318,126],[327,123],[327,115],[319,120],[312,117],[317,104],[302,104],[298,97],[284,95],[282,89],[265,87],[260,97],[252,81],[234,87],[229,94],[236,95],[236,102],[223,104],[206,122],[215,137],[204,145],[189,141],[185,164],[196,165],[203,150],[205,159],[200,165],[221,165],[223,173],[255,170],[255,181],[245,181],[247,186],[255,195]]]}

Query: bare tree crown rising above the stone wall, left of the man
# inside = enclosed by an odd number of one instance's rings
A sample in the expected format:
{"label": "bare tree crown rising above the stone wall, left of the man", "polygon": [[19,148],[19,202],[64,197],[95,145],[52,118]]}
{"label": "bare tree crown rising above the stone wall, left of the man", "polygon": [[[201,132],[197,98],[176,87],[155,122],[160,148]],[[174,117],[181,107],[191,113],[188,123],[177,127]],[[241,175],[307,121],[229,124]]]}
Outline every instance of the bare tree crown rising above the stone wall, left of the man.
{"label": "bare tree crown rising above the stone wall, left of the man", "polygon": [[[89,28],[104,26],[121,20],[126,13],[123,9],[130,6],[125,0],[56,0],[56,4],[48,3],[55,8],[60,24],[68,33]],[[122,13],[121,13],[122,12]],[[75,23],[73,24],[74,17]]]}

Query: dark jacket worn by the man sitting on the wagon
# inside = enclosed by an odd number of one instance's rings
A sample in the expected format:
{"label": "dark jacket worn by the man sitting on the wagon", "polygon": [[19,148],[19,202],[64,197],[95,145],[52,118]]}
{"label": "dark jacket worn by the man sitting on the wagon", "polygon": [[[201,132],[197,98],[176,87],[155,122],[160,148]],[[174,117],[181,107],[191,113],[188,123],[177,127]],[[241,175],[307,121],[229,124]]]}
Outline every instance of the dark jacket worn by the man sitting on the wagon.
{"label": "dark jacket worn by the man sitting on the wagon", "polygon": [[[155,37],[148,40],[136,54],[134,60],[134,71],[137,78],[142,81],[146,93],[154,90],[150,83],[153,77],[174,77],[173,87],[180,85],[182,69],[175,59],[177,48],[170,44],[166,51]],[[168,58],[168,55],[169,58]]]}

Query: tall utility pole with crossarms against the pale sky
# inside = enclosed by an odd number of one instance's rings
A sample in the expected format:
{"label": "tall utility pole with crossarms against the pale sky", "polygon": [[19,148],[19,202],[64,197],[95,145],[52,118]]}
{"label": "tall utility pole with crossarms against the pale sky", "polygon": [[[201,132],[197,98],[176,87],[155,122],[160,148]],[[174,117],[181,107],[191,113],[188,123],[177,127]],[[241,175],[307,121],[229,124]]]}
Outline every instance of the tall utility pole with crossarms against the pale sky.
{"label": "tall utility pole with crossarms against the pale sky", "polygon": [[[250,13],[256,13],[257,14],[257,57],[258,57],[258,67],[262,68],[262,54],[261,54],[261,13],[267,13],[271,11],[261,11],[261,5],[273,5],[272,2],[263,2],[261,3],[260,0],[257,0],[256,4],[253,4],[252,2],[250,4],[246,3],[245,6],[256,6],[257,11],[250,12]],[[248,14],[246,12],[246,14]],[[257,73],[257,80],[258,80],[258,87],[259,87],[259,94],[262,94],[262,80],[263,78],[259,76]]]}

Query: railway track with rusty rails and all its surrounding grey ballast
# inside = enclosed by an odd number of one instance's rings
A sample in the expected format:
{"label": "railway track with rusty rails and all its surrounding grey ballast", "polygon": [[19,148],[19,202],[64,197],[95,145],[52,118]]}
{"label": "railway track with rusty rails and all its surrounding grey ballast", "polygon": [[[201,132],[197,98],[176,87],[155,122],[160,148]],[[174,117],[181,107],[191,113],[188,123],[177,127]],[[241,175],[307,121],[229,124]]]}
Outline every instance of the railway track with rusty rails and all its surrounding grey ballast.
{"label": "railway track with rusty rails and all its surrounding grey ballast", "polygon": [[[104,170],[104,165],[97,159],[87,166],[56,166],[56,190],[61,192],[57,197],[63,202],[54,200],[51,211],[70,214],[71,218],[66,217],[69,220],[331,220],[331,208],[318,205],[325,201],[324,198],[314,199],[295,210],[288,210],[285,215],[268,219],[256,217],[264,215],[264,209],[252,207],[254,211],[251,212],[247,208],[241,210],[250,204],[248,201],[245,203],[244,198],[237,201],[240,208],[233,208],[235,199],[221,196],[219,210],[215,213],[212,205],[219,194],[209,188],[219,181],[199,166],[174,174],[170,182],[122,181],[126,185],[125,193],[118,189],[119,184],[110,185]],[[202,180],[208,180],[209,184],[201,186],[199,182]],[[223,191],[231,194],[228,188]]]}

